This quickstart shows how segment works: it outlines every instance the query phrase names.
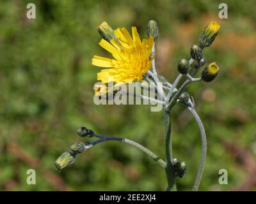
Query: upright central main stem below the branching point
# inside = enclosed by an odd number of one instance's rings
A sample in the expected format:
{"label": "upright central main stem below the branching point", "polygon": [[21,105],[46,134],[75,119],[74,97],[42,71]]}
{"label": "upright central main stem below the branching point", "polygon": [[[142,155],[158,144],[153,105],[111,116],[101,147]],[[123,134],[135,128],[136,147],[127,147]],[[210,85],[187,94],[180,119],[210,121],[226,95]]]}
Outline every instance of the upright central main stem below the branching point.
{"label": "upright central main stem below the branching point", "polygon": [[171,135],[171,116],[168,110],[164,110],[164,136],[166,154],[166,177],[168,182],[167,191],[176,191],[175,174],[173,170],[172,157],[172,135]]}

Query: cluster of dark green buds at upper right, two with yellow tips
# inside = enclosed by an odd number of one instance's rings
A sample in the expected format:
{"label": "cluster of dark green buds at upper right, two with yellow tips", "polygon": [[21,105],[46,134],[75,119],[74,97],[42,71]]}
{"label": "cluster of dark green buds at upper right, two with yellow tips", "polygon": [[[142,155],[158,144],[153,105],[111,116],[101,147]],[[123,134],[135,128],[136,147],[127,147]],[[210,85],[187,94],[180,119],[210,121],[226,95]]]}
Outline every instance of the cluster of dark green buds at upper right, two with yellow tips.
{"label": "cluster of dark green buds at upper right, two with yellow tips", "polygon": [[[199,45],[193,45],[191,47],[191,59],[189,61],[187,59],[180,59],[177,66],[180,74],[188,75],[191,68],[199,69],[205,65],[206,60],[203,49],[212,44],[218,35],[219,29],[220,25],[217,22],[211,22],[207,27],[205,27],[204,31],[200,34]],[[218,75],[218,72],[218,64],[216,62],[212,62],[203,69],[201,78],[204,82],[211,82]]]}

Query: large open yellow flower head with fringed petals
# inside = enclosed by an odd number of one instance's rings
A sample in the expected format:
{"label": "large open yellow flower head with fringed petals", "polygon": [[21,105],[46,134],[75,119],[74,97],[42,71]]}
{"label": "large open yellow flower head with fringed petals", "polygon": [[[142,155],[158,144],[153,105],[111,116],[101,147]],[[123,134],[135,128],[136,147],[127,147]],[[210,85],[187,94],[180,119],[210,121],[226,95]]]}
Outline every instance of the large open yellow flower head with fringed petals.
{"label": "large open yellow flower head with fringed petals", "polygon": [[150,54],[154,38],[149,36],[141,41],[136,27],[132,27],[132,37],[124,27],[116,29],[114,33],[116,38],[109,42],[102,39],[99,43],[114,59],[93,56],[93,65],[108,68],[102,69],[97,79],[102,83],[140,81],[152,66]]}

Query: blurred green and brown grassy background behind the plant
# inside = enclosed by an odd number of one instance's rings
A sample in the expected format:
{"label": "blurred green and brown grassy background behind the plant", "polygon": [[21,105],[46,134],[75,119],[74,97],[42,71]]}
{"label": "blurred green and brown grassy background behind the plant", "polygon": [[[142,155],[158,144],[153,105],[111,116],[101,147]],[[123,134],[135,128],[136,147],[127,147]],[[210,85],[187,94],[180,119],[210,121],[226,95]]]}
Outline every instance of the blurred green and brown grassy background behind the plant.
{"label": "blurred green and brown grassy background behind the plant", "polygon": [[[26,5],[36,4],[36,19]],[[100,68],[92,55],[108,56],[98,42],[97,26],[138,27],[146,36],[156,20],[159,73],[173,81],[177,62],[189,58],[191,45],[211,20],[221,24],[213,45],[205,49],[220,74],[211,83],[196,83],[195,96],[208,139],[200,190],[256,189],[255,64],[256,2],[225,1],[228,19],[218,18],[223,1],[86,0],[1,1],[0,3],[0,190],[1,191],[164,191],[164,170],[124,143],[102,143],[79,154],[76,164],[57,171],[54,161],[86,126],[102,135],[123,136],[164,158],[163,112],[146,105],[93,103]],[[180,191],[191,190],[200,157],[195,121],[181,105],[172,115],[173,154],[186,161],[188,173],[177,179]],[[93,140],[93,139],[92,139]],[[89,141],[89,140],[88,140]],[[36,170],[36,185],[26,171]],[[228,171],[228,185],[218,171]]]}

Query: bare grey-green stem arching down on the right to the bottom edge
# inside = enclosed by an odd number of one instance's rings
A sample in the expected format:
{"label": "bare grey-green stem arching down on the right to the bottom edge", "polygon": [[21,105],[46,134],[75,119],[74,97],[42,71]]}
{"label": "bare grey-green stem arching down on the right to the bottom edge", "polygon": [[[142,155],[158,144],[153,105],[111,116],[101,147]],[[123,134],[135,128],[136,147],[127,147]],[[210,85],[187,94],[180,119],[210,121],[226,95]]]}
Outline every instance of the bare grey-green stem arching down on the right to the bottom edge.
{"label": "bare grey-green stem arching down on the right to the bottom edge", "polygon": [[196,174],[195,184],[193,186],[193,191],[198,191],[198,187],[200,185],[202,175],[204,172],[205,158],[206,158],[206,153],[207,153],[207,141],[206,141],[204,126],[202,124],[200,117],[198,116],[198,114],[196,113],[194,108],[191,108],[191,107],[187,107],[187,108],[188,108],[189,112],[191,112],[191,114],[193,115],[193,117],[195,118],[195,120],[198,124],[198,127],[200,129],[201,140],[202,140],[202,153],[200,156],[200,164],[199,164],[199,168],[198,168],[198,171]]}

